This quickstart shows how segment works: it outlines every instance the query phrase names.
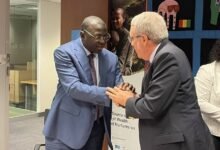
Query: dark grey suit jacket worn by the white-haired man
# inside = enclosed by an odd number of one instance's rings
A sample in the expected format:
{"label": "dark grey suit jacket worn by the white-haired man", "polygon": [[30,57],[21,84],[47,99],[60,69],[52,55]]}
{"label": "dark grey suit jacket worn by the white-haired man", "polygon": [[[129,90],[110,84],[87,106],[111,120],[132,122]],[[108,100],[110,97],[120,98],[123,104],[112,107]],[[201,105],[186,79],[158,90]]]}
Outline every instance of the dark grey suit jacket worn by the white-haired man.
{"label": "dark grey suit jacket worn by the white-haired man", "polygon": [[142,150],[214,149],[187,57],[168,40],[143,78],[140,98],[127,101],[126,116],[139,118]]}

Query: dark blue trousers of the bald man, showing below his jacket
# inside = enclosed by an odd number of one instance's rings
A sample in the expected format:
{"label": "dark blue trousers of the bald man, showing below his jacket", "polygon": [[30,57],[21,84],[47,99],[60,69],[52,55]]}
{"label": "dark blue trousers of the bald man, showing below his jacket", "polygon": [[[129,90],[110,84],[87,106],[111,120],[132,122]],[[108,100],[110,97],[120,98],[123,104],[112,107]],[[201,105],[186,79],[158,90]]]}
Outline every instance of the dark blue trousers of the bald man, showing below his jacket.
{"label": "dark blue trousers of the bald man, showing below his jacket", "polygon": [[46,137],[46,150],[102,150],[104,133],[105,127],[102,117],[99,118],[99,122],[94,122],[90,137],[83,148],[72,149],[57,139]]}

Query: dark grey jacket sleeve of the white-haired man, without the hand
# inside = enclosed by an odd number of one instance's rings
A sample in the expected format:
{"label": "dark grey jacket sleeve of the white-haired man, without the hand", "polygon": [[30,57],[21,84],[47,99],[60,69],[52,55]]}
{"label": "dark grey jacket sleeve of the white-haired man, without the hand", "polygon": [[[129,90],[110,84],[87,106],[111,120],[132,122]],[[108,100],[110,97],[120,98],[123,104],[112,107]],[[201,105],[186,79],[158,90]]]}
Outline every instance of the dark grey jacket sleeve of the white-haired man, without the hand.
{"label": "dark grey jacket sleeve of the white-haired man, without the hand", "polygon": [[126,116],[140,119],[155,119],[165,113],[176,99],[181,84],[181,68],[174,54],[165,53],[152,63],[150,81],[140,97],[126,101]]}

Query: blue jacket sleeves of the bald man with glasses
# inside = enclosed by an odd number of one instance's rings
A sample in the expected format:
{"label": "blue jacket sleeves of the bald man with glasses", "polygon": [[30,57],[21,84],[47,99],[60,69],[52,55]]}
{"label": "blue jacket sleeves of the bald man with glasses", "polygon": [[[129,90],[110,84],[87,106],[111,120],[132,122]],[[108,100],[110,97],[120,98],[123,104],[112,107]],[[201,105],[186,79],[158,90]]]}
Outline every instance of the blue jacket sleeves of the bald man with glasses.
{"label": "blue jacket sleeves of the bald man with glasses", "polygon": [[[54,59],[59,82],[65,92],[70,95],[73,100],[107,107],[110,106],[110,100],[105,94],[106,87],[98,87],[88,83],[88,81],[82,77],[86,75],[82,67],[79,66],[77,59],[72,59],[67,52],[60,49],[55,51]],[[112,72],[114,72],[114,74],[112,74],[111,81],[113,82],[112,85],[115,85],[120,83],[122,79],[117,65],[117,57],[115,56],[115,58],[112,59],[112,63],[107,67],[113,69]],[[106,76],[109,75],[106,74]]]}

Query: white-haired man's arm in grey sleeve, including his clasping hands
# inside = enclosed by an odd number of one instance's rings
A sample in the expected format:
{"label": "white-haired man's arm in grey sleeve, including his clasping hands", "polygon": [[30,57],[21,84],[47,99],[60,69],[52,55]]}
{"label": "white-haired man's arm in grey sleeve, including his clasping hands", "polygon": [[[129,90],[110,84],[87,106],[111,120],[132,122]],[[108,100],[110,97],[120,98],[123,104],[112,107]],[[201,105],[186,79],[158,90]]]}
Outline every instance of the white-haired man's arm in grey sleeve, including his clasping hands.
{"label": "white-haired man's arm in grey sleeve, including his clasping hands", "polygon": [[[162,57],[163,58],[163,57]],[[177,60],[171,56],[154,64],[154,72],[148,89],[140,97],[131,91],[108,88],[106,94],[117,104],[125,106],[126,116],[152,119],[170,106],[180,85]]]}

